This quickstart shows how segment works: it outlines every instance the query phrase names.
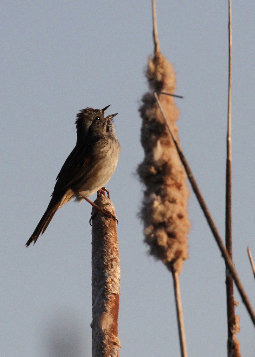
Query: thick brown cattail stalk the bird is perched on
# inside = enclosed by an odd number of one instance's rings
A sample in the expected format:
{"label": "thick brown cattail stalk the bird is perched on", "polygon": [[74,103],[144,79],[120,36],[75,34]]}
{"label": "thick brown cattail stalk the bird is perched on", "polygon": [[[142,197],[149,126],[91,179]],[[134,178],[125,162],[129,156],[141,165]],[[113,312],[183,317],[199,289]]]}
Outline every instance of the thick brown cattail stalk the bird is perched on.
{"label": "thick brown cattail stalk the bird is perched on", "polygon": [[[97,196],[95,203],[115,216],[110,198]],[[92,220],[92,357],[119,357],[119,296],[117,222],[97,212]]]}

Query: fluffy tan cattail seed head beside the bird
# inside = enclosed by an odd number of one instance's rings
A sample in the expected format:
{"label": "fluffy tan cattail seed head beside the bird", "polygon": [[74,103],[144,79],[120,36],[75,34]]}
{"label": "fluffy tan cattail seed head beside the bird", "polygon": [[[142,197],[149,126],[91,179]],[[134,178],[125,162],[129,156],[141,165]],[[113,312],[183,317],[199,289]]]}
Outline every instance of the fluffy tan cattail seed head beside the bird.
{"label": "fluffy tan cattail seed head beside the bird", "polygon": [[[149,57],[146,77],[150,92],[142,97],[139,109],[141,144],[145,152],[144,161],[137,169],[145,185],[140,217],[144,222],[145,242],[150,246],[150,254],[162,260],[169,270],[180,273],[188,257],[189,190],[184,167],[154,97],[154,91],[173,94],[176,89],[174,69],[159,50],[155,51],[153,59]],[[179,110],[174,99],[164,94],[159,94],[159,99],[178,140],[175,122]]]}

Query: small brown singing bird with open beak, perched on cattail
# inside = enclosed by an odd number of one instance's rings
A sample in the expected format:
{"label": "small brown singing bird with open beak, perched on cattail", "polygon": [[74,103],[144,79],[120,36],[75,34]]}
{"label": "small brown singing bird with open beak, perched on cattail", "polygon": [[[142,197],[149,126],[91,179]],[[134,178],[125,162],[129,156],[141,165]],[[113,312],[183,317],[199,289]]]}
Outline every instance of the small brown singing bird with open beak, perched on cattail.
{"label": "small brown singing bird with open beak, perched on cattail", "polygon": [[87,196],[105,188],[110,180],[117,166],[121,146],[112,120],[118,113],[104,117],[109,106],[101,110],[87,107],[76,115],[76,145],[57,175],[50,203],[26,242],[26,247],[32,242],[35,244],[56,211],[65,203],[74,197],[78,202],[83,198],[91,202]]}

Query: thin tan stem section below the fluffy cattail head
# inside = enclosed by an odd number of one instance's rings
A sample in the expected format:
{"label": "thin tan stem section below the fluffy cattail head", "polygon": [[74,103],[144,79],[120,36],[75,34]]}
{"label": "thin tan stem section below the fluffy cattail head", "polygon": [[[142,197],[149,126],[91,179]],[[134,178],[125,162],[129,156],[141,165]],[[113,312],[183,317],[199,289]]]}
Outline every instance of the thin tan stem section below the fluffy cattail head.
{"label": "thin tan stem section below the fluffy cattail head", "polygon": [[181,306],[181,291],[180,291],[179,273],[177,271],[172,271],[172,278],[173,278],[173,282],[174,282],[175,307],[176,307],[176,316],[177,316],[177,322],[178,322],[181,357],[187,357],[184,322],[183,322],[182,306]]}

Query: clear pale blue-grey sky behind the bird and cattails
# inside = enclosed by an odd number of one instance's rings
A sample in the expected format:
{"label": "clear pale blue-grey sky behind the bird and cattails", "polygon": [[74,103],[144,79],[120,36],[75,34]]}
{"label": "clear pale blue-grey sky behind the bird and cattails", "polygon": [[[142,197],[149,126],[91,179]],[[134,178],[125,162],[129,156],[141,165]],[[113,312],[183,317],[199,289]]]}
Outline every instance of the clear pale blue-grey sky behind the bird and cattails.
{"label": "clear pale blue-grey sky behind the bird and cattails", "polygon": [[[224,238],[228,2],[157,1],[162,53],[174,65],[182,149]],[[0,355],[91,356],[91,207],[69,202],[25,243],[76,141],[86,106],[115,117],[122,146],[107,188],[118,216],[122,357],[179,356],[172,279],[147,256],[137,218],[137,111],[153,51],[151,1],[2,1]],[[255,306],[254,0],[233,1],[233,254]],[[95,195],[91,196],[92,200]],[[226,356],[225,266],[191,193],[189,260],[180,277],[189,356]],[[238,293],[243,357],[255,328]]]}

